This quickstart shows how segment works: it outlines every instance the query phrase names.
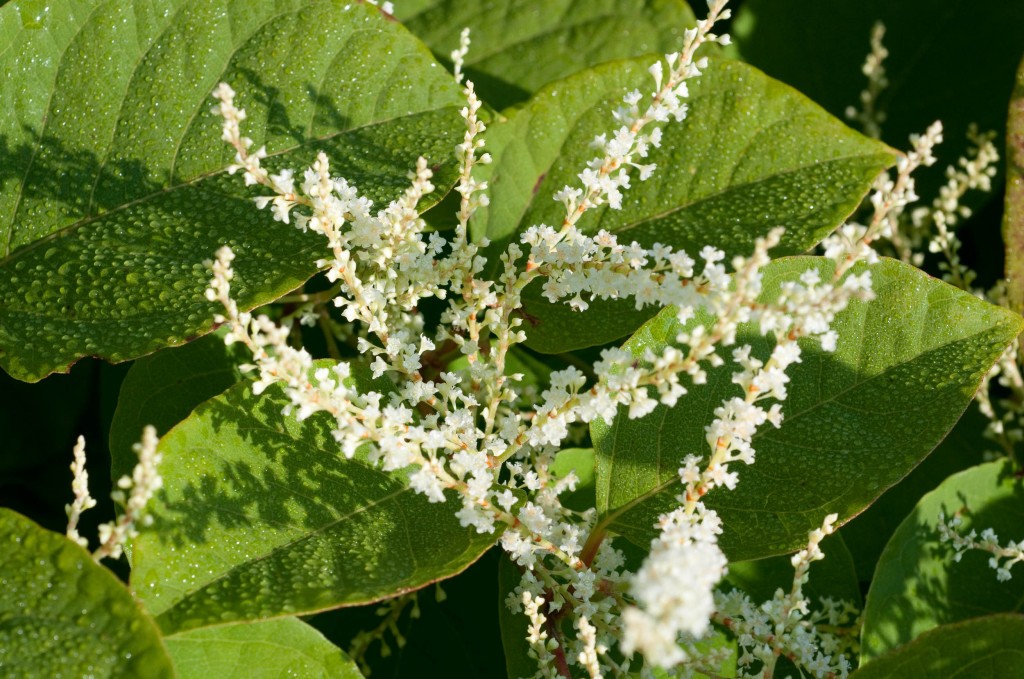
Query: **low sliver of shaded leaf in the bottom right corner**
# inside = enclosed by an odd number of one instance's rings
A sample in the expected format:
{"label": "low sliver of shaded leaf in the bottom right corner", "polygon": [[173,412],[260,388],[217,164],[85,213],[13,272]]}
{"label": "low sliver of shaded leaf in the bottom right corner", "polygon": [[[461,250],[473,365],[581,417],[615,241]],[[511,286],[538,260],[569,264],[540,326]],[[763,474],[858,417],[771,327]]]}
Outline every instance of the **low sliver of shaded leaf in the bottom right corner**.
{"label": "low sliver of shaded leaf in the bottom right corner", "polygon": [[863,665],[851,679],[1019,677],[1024,675],[1024,616],[986,616],[943,625]]}

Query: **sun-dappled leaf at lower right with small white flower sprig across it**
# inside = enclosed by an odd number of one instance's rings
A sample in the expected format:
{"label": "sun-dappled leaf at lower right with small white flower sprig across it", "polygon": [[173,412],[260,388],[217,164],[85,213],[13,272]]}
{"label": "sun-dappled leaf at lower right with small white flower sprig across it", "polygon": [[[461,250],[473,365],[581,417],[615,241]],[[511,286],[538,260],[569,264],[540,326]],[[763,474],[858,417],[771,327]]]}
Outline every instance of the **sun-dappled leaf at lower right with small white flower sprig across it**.
{"label": "sun-dappled leaf at lower right with small white flower sprig across it", "polygon": [[1024,487],[1009,462],[992,462],[950,476],[929,493],[886,546],[867,592],[862,657],[873,659],[923,632],[970,618],[1024,608],[1024,574],[995,579],[987,552],[971,550],[957,562],[942,544],[939,512],[958,515],[961,533],[992,528],[1001,544],[1024,539]]}

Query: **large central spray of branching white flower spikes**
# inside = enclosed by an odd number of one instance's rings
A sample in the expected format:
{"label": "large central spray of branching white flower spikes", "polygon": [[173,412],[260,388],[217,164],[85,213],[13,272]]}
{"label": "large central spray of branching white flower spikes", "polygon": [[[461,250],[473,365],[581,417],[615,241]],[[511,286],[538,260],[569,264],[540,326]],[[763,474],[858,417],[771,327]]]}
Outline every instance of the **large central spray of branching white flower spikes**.
{"label": "large central spray of branching white flower spikes", "polygon": [[[242,171],[248,184],[270,189],[256,203],[269,207],[275,219],[294,220],[297,227],[326,239],[329,256],[321,265],[336,286],[333,301],[362,333],[358,348],[374,376],[386,376],[393,384],[388,393],[359,392],[348,379],[348,364],[314,371],[310,354],[288,343],[287,325],[241,311],[230,296],[233,254],[225,247],[211,262],[207,296],[223,307],[216,321],[229,327],[227,341],[243,342],[252,352],[250,369],[258,373],[254,391],[281,384],[291,400],[290,414],[301,419],[329,413],[343,455],[362,450],[385,470],[412,467],[411,485],[431,501],[444,502],[445,491],[454,491],[463,525],[494,533],[523,568],[522,583],[508,603],[529,620],[528,640],[541,675],[556,675],[566,665],[578,665],[591,676],[625,672],[634,651],[646,657],[644,672],[680,664],[714,667],[716,653],[698,652],[693,644],[710,633],[711,621],[720,614],[716,611],[725,606],[714,590],[726,559],[718,546],[721,521],[701,498],[718,486],[734,487],[738,473],[732,463],[754,462],[755,432],[766,424],[780,426],[786,369],[801,359],[798,340],[817,339],[824,349],[835,348],[836,314],[850,300],[871,294],[869,272],[850,272],[864,251],[863,232],[847,234],[849,240],[833,248],[835,278],[821,280],[808,271],[766,300],[762,269],[778,242],[778,229],[759,239],[749,256],[728,262],[730,272],[725,254],[712,246],[691,257],[665,245],[624,244],[605,231],[591,236],[577,228],[587,210],[620,207],[631,171],[640,180],[654,171],[642,161],[660,143],[658,126],[686,116],[686,80],[705,68],[694,52],[703,43],[726,42],[711,31],[728,15],[724,4],[711,2],[708,19],[686,33],[682,51],[650,69],[655,89],[646,108],[639,92],[626,95],[615,113],[621,127],[595,140],[601,155],[580,173],[581,185],[555,196],[565,206],[562,223],[526,229],[502,256],[497,281],[481,278],[481,244],[468,239],[473,210],[486,201],[486,183],[476,181],[472,170],[488,160],[478,153],[485,127],[477,117],[480,102],[472,83],[464,84],[466,134],[456,150],[462,201],[457,228],[447,240],[428,232],[418,215],[419,202],[434,189],[426,160],[420,159],[400,198],[375,210],[356,187],[332,176],[323,154],[300,181],[290,170],[270,174],[262,167],[265,150],[251,151],[253,141],[242,136],[245,114],[234,105],[234,92],[226,84],[215,92],[214,112],[224,119],[223,137],[236,151],[230,171]],[[467,47],[464,34],[453,54],[460,81]],[[902,207],[891,200],[899,181],[880,184],[880,220]],[[509,349],[525,339],[517,314],[520,295],[538,279],[544,280],[549,300],[580,310],[595,297],[631,297],[638,308],[674,305],[683,330],[662,353],[604,350],[593,367],[596,381],[574,367],[555,371],[548,387],[531,398],[522,387],[523,376],[508,374],[506,359]],[[417,310],[428,297],[447,302],[436,330],[428,329]],[[714,320],[697,324],[698,309]],[[775,340],[769,356],[760,358],[750,346],[736,346],[740,324],[753,324]],[[463,367],[450,364],[436,376],[428,374],[424,356],[442,345],[455,347],[463,358],[457,365]],[[731,349],[724,352],[724,347]],[[709,367],[729,359],[736,367],[736,395],[708,424],[709,451],[681,460],[679,507],[662,516],[647,560],[629,574],[623,554],[595,527],[595,511],[572,511],[559,501],[577,478],[552,474],[554,454],[578,424],[610,421],[620,412],[642,417],[658,405],[675,406],[705,383]],[[830,525],[826,522],[823,531]],[[820,540],[815,536],[811,552]],[[736,609],[730,621],[737,634],[751,640],[741,643],[754,648],[755,655],[762,642],[770,648],[797,644],[790,633],[803,634],[801,648],[817,639],[813,628],[793,624],[807,612],[799,589],[806,568],[801,571],[799,563],[797,568],[794,592],[774,608],[730,604]],[[561,632],[559,621],[565,614],[571,616],[574,635]],[[775,627],[757,622],[765,616]],[[741,620],[751,622],[741,627]],[[779,633],[785,638],[766,640]],[[616,646],[625,660],[610,652]],[[824,668],[822,673],[846,672],[846,661],[827,652],[808,650],[799,656]]]}

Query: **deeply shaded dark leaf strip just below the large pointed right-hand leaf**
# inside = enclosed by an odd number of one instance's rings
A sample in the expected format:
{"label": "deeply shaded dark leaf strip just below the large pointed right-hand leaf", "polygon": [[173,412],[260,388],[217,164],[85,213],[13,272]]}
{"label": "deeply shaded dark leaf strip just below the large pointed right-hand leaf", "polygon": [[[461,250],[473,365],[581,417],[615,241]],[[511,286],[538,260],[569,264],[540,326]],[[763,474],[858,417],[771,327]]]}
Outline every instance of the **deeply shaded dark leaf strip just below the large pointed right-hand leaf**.
{"label": "deeply shaded dark leaf strip just below the large pointed right-hand leaf", "polygon": [[843,539],[853,552],[861,582],[870,582],[886,544],[926,493],[934,491],[950,474],[984,461],[985,453],[994,448],[984,435],[988,422],[972,404],[938,448],[906,478],[843,526]]}

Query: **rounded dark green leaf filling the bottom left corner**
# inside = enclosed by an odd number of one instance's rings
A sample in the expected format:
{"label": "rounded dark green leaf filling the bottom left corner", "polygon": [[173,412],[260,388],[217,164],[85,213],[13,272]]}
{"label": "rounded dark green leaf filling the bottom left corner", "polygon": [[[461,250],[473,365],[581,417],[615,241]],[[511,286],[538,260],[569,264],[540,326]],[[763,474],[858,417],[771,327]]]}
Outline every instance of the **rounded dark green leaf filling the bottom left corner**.
{"label": "rounded dark green leaf filling the bottom left corner", "polygon": [[0,674],[173,677],[156,624],[80,546],[0,508]]}

